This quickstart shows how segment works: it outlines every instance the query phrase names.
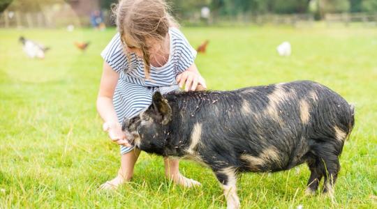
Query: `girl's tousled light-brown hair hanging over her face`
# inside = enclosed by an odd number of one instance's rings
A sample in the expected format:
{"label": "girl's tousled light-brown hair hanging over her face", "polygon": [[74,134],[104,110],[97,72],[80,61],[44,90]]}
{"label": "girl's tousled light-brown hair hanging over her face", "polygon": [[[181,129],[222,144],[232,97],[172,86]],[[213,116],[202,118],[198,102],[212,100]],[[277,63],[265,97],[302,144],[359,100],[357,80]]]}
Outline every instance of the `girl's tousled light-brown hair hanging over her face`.
{"label": "girl's tousled light-brown hair hanging over her face", "polygon": [[[119,0],[113,8],[124,51],[126,52],[124,37],[128,36],[135,41],[135,47],[142,51],[147,79],[150,72],[150,54],[146,38],[162,42],[168,34],[169,27],[178,26],[175,19],[168,13],[169,10],[170,7],[163,0]],[[126,52],[126,54],[130,62],[130,53]]]}

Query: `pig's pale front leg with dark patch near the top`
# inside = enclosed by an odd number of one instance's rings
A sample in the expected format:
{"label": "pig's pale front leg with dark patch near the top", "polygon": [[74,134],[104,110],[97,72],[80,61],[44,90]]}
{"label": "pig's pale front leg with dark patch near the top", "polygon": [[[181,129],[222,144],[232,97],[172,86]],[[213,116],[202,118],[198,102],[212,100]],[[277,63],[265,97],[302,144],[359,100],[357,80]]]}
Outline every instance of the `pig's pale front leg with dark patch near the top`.
{"label": "pig's pale front leg with dark patch near the top", "polygon": [[228,167],[215,171],[217,180],[219,180],[221,187],[223,187],[224,196],[226,197],[226,204],[228,209],[239,208],[239,198],[237,196],[237,173],[234,168]]}

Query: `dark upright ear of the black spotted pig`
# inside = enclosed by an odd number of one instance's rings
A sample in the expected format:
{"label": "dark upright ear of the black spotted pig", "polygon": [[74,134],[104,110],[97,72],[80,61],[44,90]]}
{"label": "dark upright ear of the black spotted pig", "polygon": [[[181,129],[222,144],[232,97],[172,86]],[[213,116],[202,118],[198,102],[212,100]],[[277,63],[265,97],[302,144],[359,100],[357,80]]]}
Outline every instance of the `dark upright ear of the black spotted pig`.
{"label": "dark upright ear of the black spotted pig", "polygon": [[161,116],[162,125],[168,124],[170,117],[172,116],[172,109],[168,104],[168,100],[165,100],[165,98],[163,98],[163,95],[161,95],[159,91],[156,91],[152,98],[152,104],[156,109],[156,114],[159,114]]}

